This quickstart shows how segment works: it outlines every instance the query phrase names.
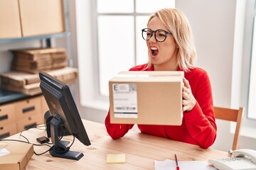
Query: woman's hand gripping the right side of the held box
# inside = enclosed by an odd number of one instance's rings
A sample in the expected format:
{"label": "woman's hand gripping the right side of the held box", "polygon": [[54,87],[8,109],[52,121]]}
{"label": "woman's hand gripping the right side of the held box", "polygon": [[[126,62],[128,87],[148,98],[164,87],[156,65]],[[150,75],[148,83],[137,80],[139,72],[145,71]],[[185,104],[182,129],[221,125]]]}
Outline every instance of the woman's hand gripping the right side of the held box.
{"label": "woman's hand gripping the right side of the held box", "polygon": [[182,97],[182,111],[191,111],[196,105],[196,98],[193,96],[191,86],[186,78],[183,78]]}

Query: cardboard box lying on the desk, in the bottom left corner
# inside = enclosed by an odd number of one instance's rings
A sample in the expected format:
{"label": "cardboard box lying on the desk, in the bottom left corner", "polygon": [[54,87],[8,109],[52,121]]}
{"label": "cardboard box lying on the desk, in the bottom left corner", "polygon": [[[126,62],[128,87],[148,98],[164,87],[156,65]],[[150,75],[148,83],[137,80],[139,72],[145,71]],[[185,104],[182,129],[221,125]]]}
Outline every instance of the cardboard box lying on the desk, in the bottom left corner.
{"label": "cardboard box lying on the desk, in the bottom left corner", "polygon": [[33,156],[32,144],[0,142],[0,150],[6,152],[0,159],[0,169],[4,170],[23,170]]}

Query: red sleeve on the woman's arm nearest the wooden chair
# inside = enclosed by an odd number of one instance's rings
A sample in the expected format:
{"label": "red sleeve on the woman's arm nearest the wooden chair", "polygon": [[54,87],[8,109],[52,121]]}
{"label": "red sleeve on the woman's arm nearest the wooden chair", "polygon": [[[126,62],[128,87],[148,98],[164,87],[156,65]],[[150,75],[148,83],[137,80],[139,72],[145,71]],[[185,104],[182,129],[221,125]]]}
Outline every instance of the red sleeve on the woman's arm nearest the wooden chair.
{"label": "red sleeve on the woman's arm nearest the wooden chair", "polygon": [[208,74],[199,70],[199,75],[191,77],[192,93],[196,98],[196,106],[184,113],[186,127],[199,147],[208,148],[216,138],[217,126],[213,112],[213,96]]}

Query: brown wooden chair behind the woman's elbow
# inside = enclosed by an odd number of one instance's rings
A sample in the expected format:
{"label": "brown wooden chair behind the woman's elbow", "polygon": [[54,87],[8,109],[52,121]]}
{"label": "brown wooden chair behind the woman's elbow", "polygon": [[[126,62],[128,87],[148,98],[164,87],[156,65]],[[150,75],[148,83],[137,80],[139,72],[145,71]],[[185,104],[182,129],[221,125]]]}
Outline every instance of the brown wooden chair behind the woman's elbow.
{"label": "brown wooden chair behind the woman's elbow", "polygon": [[243,112],[244,112],[243,107],[240,107],[239,109],[214,107],[214,113],[215,113],[216,119],[236,122],[235,135],[234,135],[233,147],[232,147],[233,150],[238,149]]}

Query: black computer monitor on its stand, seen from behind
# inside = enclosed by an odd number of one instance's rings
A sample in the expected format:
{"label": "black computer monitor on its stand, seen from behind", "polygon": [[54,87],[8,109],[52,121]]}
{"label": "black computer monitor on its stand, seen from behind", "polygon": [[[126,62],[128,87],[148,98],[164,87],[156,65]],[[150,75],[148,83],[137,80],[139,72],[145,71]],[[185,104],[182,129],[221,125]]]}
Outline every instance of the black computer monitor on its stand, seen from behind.
{"label": "black computer monitor on its stand, seen from behind", "polygon": [[39,72],[39,77],[41,79],[41,91],[44,98],[46,98],[50,113],[53,115],[50,120],[50,135],[53,142],[50,154],[53,157],[79,160],[83,157],[82,152],[70,151],[68,142],[60,140],[60,136],[63,134],[59,134],[60,128],[63,128],[74,136],[74,140],[76,137],[82,144],[90,145],[89,137],[82,124],[70,89],[67,84],[55,79],[46,72]]}

